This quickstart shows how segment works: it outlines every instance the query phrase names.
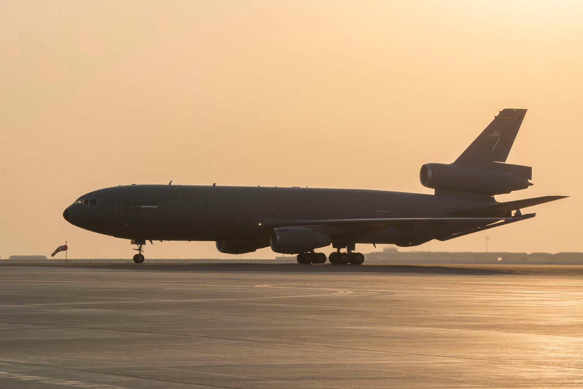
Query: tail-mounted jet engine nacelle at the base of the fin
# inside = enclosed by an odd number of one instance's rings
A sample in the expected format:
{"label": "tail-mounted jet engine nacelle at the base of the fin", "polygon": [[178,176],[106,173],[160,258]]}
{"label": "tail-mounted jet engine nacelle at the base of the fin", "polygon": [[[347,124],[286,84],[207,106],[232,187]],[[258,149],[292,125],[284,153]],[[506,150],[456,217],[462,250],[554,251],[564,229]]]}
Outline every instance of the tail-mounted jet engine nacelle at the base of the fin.
{"label": "tail-mounted jet engine nacelle at the base of the fin", "polygon": [[419,178],[426,188],[489,196],[503,195],[532,185],[528,179],[511,171],[453,164],[424,164]]}

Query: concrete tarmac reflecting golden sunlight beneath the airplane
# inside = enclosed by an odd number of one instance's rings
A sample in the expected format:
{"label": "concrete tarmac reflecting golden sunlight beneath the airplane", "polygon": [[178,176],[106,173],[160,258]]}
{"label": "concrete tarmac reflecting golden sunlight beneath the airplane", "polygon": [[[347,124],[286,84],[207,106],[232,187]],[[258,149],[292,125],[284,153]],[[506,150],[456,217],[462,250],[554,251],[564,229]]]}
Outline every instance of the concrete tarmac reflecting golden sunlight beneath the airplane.
{"label": "concrete tarmac reflecting golden sunlight beneath the airplane", "polygon": [[581,388],[583,266],[0,266],[0,388]]}

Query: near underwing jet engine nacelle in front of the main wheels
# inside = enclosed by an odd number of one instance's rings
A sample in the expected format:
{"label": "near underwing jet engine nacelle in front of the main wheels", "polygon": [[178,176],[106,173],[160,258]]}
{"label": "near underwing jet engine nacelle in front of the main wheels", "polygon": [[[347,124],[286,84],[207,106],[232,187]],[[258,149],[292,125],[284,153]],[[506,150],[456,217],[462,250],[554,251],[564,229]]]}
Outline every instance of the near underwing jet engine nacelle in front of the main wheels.
{"label": "near underwing jet engine nacelle in front of the main wheels", "polygon": [[304,227],[279,227],[271,233],[271,249],[276,253],[305,253],[330,244],[328,235]]}

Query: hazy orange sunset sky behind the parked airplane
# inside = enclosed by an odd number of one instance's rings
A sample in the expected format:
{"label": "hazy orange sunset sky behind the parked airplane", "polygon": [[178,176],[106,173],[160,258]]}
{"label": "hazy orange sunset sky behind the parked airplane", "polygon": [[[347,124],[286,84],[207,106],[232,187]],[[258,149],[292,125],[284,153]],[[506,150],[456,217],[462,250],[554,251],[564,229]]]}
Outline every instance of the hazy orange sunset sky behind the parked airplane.
{"label": "hazy orange sunset sky behind the parked airplane", "polygon": [[535,185],[497,199],[573,197],[431,250],[490,235],[492,251],[583,251],[582,69],[579,1],[0,0],[0,257],[67,239],[69,257],[131,258],[62,218],[106,186],[431,193],[420,166],[452,162],[503,108],[529,109],[508,162]]}

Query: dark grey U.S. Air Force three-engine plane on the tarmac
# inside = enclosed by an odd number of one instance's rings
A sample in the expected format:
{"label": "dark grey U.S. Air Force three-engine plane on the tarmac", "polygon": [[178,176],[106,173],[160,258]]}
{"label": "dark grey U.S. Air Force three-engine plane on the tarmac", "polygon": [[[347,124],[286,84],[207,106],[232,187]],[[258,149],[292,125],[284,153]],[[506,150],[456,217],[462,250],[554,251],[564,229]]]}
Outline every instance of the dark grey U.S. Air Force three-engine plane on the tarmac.
{"label": "dark grey U.S. Air Force three-engine plane on the tarmac", "polygon": [[[533,185],[532,168],[505,163],[526,109],[506,108],[451,164],[427,163],[420,181],[434,194],[263,186],[120,185],[79,197],[63,213],[77,227],[131,239],[135,263],[146,241],[215,241],[221,253],[271,246],[298,263],[359,265],[356,243],[421,245],[535,217],[521,209],[563,199],[498,202]],[[512,211],[515,211],[512,214]],[[329,254],[316,252],[332,244]],[[346,251],[343,251],[343,250]]]}

